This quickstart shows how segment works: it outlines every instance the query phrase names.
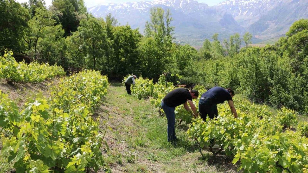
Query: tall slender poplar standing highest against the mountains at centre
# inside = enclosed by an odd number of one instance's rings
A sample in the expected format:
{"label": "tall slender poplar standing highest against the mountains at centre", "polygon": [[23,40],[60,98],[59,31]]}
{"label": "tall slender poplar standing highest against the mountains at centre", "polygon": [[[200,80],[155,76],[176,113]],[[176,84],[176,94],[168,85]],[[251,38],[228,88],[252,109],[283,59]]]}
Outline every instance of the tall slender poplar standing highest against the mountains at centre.
{"label": "tall slender poplar standing highest against the mountains at centre", "polygon": [[[147,38],[143,39],[140,45],[144,50],[140,49],[140,52],[141,56],[143,56],[142,58],[146,61],[144,63],[144,70],[148,69],[148,71],[143,71],[143,74],[148,75],[144,75],[144,77],[150,77],[157,80],[159,75],[164,70],[168,69],[172,62],[171,49],[172,40],[175,39],[173,37],[174,27],[171,26],[173,19],[170,10],[164,11],[160,7],[153,7],[150,10],[150,14],[151,20],[146,22],[144,29]],[[148,54],[150,54],[150,56],[148,56]],[[156,70],[152,69],[155,68],[153,65],[157,65],[158,68]],[[156,72],[152,74],[149,73],[152,70],[153,72]]]}

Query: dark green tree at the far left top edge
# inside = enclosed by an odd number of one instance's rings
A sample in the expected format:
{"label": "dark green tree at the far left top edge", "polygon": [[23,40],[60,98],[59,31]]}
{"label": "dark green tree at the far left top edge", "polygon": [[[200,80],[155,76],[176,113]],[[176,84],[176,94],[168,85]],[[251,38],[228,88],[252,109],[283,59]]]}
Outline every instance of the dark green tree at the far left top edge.
{"label": "dark green tree at the far left top edge", "polygon": [[28,10],[13,0],[1,0],[0,16],[0,54],[5,49],[22,53],[25,49],[23,37],[30,19]]}

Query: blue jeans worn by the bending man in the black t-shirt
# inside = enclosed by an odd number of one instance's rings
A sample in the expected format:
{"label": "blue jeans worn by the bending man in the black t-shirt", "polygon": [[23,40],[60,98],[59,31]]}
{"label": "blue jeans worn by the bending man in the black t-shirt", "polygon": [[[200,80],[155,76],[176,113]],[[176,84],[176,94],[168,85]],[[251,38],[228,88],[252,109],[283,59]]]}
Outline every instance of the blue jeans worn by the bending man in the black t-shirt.
{"label": "blue jeans worn by the bending man in the black t-shirt", "polygon": [[167,126],[167,134],[168,134],[168,142],[174,142],[176,140],[175,136],[175,107],[167,106],[163,101],[160,103],[161,108],[164,110],[168,122]]}

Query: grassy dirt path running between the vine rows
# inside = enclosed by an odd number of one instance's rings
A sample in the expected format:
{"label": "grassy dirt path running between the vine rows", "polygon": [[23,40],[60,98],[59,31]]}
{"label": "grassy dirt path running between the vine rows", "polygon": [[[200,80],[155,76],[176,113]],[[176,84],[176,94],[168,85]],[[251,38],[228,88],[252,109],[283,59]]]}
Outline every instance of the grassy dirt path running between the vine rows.
{"label": "grassy dirt path running between the vine rows", "polygon": [[202,161],[198,147],[186,135],[188,126],[184,124],[176,127],[178,146],[171,146],[166,136],[167,120],[159,117],[149,99],[127,95],[120,83],[111,83],[97,109],[101,129],[105,128],[103,124],[109,114],[103,153],[112,172],[237,172],[237,166],[224,155],[214,159],[204,151],[207,157]]}

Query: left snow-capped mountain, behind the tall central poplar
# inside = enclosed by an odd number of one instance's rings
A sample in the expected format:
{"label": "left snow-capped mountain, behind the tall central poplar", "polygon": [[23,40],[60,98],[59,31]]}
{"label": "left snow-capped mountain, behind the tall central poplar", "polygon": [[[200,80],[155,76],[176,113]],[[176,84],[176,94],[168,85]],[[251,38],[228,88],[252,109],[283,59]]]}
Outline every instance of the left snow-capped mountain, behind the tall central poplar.
{"label": "left snow-capped mountain, behind the tall central poplar", "polygon": [[121,25],[128,23],[132,28],[140,27],[143,33],[145,22],[150,20],[151,7],[169,8],[174,19],[176,41],[200,45],[205,38],[211,38],[218,32],[220,38],[230,33],[243,33],[245,30],[231,14],[222,13],[205,3],[194,0],[156,0],[108,4],[88,9],[95,17],[104,17],[108,13],[115,16]]}

